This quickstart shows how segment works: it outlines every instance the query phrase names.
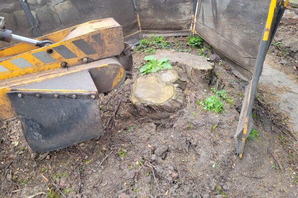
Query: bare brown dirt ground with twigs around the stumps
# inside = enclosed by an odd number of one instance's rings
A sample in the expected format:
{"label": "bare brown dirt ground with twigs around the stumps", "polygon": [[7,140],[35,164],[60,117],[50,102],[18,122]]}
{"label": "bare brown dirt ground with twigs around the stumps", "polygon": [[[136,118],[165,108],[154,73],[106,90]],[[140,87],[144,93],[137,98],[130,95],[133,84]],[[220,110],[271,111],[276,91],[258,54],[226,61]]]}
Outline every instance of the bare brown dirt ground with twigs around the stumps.
{"label": "bare brown dirt ground with twigs around the stumps", "polygon": [[[283,22],[269,53],[276,67],[298,79],[298,22]],[[198,54],[186,38],[167,38],[170,49]],[[274,43],[274,44],[275,44]],[[294,50],[292,50],[294,49]],[[284,54],[284,50],[289,53]],[[259,87],[253,110],[260,137],[235,155],[234,134],[247,83],[221,60],[215,72],[234,100],[223,113],[191,102],[212,95],[188,83],[186,106],[169,118],[141,117],[130,101],[146,52],[134,52],[134,75],[117,92],[101,96],[103,124],[120,108],[104,136],[32,159],[18,118],[0,121],[0,197],[28,198],[297,198],[298,148],[291,120],[276,111],[272,88]],[[286,64],[280,61],[285,60]],[[39,193],[39,195],[38,195]]]}

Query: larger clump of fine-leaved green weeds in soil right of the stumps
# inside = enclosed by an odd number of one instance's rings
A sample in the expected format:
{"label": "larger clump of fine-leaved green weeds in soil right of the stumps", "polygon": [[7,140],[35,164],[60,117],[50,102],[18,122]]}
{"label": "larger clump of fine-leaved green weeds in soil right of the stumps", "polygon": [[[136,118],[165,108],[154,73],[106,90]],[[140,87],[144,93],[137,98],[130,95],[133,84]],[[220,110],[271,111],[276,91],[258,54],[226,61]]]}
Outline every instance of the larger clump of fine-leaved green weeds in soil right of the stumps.
{"label": "larger clump of fine-leaved green weeds in soil right of the stumps", "polygon": [[205,110],[215,111],[216,113],[224,111],[224,103],[218,96],[207,97],[205,101],[199,101],[198,103],[202,105]]}

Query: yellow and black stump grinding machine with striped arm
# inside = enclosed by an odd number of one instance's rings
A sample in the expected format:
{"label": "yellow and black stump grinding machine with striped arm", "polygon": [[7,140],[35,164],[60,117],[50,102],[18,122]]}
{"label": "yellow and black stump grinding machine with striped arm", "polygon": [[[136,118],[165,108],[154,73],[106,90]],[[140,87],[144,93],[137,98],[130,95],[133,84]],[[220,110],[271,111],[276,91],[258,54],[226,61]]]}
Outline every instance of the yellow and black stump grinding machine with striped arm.
{"label": "yellow and black stump grinding machine with striped arm", "polygon": [[22,42],[0,50],[0,120],[18,116],[33,151],[102,135],[98,96],[119,88],[132,69],[122,27],[107,18],[34,40],[0,19],[0,40]]}

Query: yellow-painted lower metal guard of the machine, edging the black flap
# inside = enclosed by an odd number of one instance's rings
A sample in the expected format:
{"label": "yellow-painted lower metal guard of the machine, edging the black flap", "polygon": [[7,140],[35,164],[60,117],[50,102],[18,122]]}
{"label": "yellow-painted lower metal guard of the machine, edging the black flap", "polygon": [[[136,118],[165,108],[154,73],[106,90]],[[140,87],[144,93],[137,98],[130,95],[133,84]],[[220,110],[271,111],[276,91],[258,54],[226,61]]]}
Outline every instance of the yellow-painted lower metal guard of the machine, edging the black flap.
{"label": "yellow-painted lower metal guard of the machine, edging the black flap", "polygon": [[[21,86],[21,85],[27,85],[34,82],[40,82],[48,79],[53,79],[61,76],[65,76],[68,74],[80,72],[83,70],[89,70],[92,68],[102,68],[102,67],[109,67],[114,68],[113,66],[117,65],[119,70],[117,72],[117,75],[112,80],[112,87],[111,89],[117,88],[119,86],[119,83],[125,78],[125,70],[120,65],[120,63],[114,59],[114,58],[105,58],[97,61],[93,61],[86,64],[77,65],[75,67],[69,67],[69,68],[58,68],[50,71],[43,71],[35,74],[30,74],[27,76],[21,76],[18,78],[12,78],[0,81],[0,120],[7,119],[10,117],[15,116],[15,113],[11,107],[10,100],[8,99],[6,93],[10,91],[15,91],[13,87]],[[107,76],[106,78],[109,78]],[[84,91],[84,90],[29,90],[29,89],[17,89],[17,91],[23,91],[23,92],[61,92],[61,93],[90,93],[94,94],[90,91]]]}

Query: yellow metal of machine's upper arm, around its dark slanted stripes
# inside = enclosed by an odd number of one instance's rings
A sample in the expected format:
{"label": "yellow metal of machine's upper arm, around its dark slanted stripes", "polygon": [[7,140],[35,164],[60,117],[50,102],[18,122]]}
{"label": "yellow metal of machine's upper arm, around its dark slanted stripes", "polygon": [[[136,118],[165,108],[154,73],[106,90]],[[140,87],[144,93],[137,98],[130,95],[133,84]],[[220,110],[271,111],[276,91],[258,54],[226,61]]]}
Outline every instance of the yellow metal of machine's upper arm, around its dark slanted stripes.
{"label": "yellow metal of machine's upper arm, around its dark slanted stripes", "polygon": [[[37,40],[46,39],[54,43],[53,45],[44,48],[37,48],[27,44],[17,44],[9,48],[1,49],[0,57],[15,56],[0,61],[0,65],[8,69],[8,71],[0,72],[0,80],[57,69],[61,67],[62,62],[67,62],[68,66],[82,64],[82,59],[84,57],[98,60],[118,55],[124,49],[122,34],[122,27],[113,18],[108,18],[90,21],[38,38]],[[95,36],[99,37],[99,40],[95,40]],[[89,49],[93,49],[95,53],[85,54],[83,48],[74,45],[73,42],[78,40],[83,40],[89,46]],[[59,46],[65,46],[68,50],[74,53],[76,57],[65,58],[55,50],[55,47]],[[48,53],[51,50],[53,50],[53,53]],[[47,53],[47,55],[55,59],[55,61],[45,64],[32,55],[32,53],[40,51]],[[20,68],[10,62],[17,58],[23,58],[32,66]]]}

